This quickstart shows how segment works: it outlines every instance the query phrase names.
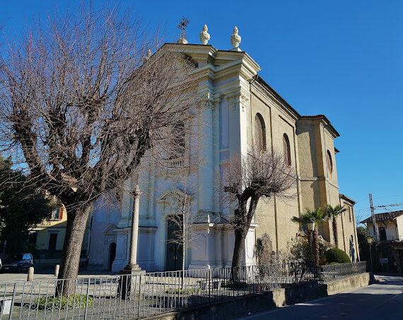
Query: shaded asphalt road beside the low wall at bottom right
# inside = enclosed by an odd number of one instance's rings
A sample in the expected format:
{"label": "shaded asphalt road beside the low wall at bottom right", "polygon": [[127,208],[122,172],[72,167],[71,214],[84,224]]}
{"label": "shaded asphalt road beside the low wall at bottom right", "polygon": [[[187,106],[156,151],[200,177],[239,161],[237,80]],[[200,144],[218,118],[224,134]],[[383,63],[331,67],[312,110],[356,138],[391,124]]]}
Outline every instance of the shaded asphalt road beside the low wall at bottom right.
{"label": "shaded asphalt road beside the low wall at bottom right", "polygon": [[403,277],[380,278],[386,281],[243,319],[403,319]]}

